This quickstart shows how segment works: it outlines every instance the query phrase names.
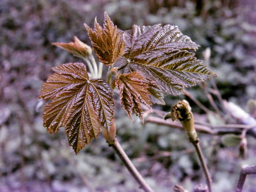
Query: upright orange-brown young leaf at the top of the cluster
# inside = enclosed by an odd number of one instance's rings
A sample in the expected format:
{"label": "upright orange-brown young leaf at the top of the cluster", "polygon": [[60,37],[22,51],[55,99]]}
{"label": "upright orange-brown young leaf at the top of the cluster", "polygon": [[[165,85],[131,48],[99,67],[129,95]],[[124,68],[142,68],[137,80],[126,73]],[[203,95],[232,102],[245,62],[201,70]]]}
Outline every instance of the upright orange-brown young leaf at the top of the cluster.
{"label": "upright orange-brown young leaf at the top of the cluster", "polygon": [[109,66],[123,55],[125,44],[122,32],[114,26],[106,12],[104,12],[104,16],[103,28],[97,23],[96,18],[93,30],[86,24],[84,26],[88,31],[98,60]]}

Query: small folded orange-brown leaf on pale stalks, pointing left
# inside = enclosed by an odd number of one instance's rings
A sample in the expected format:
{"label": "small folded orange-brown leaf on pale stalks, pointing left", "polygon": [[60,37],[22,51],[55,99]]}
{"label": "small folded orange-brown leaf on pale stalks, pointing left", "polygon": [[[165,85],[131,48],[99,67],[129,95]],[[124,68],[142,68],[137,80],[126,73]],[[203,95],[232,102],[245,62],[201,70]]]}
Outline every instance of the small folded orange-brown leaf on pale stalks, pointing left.
{"label": "small folded orange-brown leaf on pale stalks, pointing left", "polygon": [[76,36],[74,36],[74,42],[69,43],[52,43],[65,51],[72,53],[75,57],[80,57],[82,59],[86,58],[88,55],[92,53],[92,49],[90,46],[86,45],[84,42],[80,41]]}

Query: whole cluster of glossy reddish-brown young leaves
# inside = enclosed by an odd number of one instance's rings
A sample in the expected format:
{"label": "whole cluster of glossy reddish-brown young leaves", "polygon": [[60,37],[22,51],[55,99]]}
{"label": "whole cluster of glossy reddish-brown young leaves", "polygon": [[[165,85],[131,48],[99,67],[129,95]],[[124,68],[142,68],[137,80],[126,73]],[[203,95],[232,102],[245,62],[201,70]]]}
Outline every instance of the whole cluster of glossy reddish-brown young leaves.
{"label": "whole cluster of glossy reddish-brown young leaves", "polygon": [[[76,153],[92,137],[97,138],[101,126],[109,132],[114,118],[111,87],[119,90],[128,117],[132,120],[131,115],[136,114],[143,123],[141,103],[149,108],[152,103],[165,104],[162,94],[182,94],[184,87],[216,76],[189,52],[198,45],[177,26],[134,25],[121,31],[106,12],[104,16],[103,27],[96,19],[94,29],[85,27],[98,60],[109,66],[108,77],[113,75],[115,80],[89,79],[85,65],[66,63],[52,68],[55,73],[43,84],[39,96],[52,99],[45,106],[44,126],[50,133],[64,126]],[[74,43],[53,45],[77,57],[90,55],[88,46],[76,37]],[[124,61],[113,68],[120,57]]]}

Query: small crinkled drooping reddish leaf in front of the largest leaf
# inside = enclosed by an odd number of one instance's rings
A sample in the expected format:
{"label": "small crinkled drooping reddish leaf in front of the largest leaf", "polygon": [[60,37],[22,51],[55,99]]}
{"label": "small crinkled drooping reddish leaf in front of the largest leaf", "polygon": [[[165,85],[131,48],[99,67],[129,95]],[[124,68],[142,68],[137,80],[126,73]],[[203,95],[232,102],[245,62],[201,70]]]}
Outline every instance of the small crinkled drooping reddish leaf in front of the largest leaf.
{"label": "small crinkled drooping reddish leaf in front of the largest leaf", "polygon": [[129,119],[133,122],[131,114],[139,116],[142,123],[143,110],[141,102],[151,108],[150,92],[147,81],[139,72],[132,72],[130,74],[123,73],[115,81],[116,87],[120,93],[121,106],[126,111]]}

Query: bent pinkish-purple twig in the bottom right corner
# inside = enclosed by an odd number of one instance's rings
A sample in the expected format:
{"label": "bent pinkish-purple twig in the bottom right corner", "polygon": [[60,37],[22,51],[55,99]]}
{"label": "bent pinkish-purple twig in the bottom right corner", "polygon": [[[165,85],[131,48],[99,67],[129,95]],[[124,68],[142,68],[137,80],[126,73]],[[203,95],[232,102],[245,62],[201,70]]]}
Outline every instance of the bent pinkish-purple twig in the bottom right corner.
{"label": "bent pinkish-purple twig in the bottom right corner", "polygon": [[256,165],[242,165],[239,180],[235,192],[242,192],[246,176],[249,174],[256,174]]}

